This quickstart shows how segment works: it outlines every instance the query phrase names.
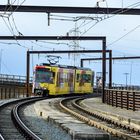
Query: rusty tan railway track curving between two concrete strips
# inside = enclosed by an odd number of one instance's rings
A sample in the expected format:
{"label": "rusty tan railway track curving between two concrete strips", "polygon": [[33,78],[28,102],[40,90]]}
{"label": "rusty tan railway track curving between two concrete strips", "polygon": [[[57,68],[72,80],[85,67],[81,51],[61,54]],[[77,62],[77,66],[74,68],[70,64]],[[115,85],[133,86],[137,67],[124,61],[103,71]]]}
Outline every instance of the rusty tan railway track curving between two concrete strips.
{"label": "rusty tan railway track curving between two concrete strips", "polygon": [[74,115],[76,118],[84,121],[90,126],[97,127],[106,132],[109,132],[115,137],[127,140],[140,140],[140,130],[130,127],[129,125],[121,124],[109,118],[103,117],[99,113],[92,112],[80,105],[84,98],[67,98],[60,102],[61,108],[66,112]]}

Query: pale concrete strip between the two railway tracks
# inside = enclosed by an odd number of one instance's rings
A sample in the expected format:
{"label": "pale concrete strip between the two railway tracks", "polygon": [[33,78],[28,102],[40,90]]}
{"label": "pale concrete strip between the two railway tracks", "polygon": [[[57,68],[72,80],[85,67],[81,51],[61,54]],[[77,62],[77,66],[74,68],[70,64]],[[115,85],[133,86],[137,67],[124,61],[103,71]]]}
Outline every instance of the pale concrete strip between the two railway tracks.
{"label": "pale concrete strip between the two railway tracks", "polygon": [[[60,99],[58,99],[60,100]],[[69,114],[58,111],[53,103],[56,99],[47,99],[35,103],[34,108],[39,116],[42,116],[46,123],[55,125],[68,133],[71,140],[109,140],[108,133],[95,127],[86,125],[84,122],[71,117]],[[55,132],[53,132],[55,133]],[[65,140],[65,138],[64,138]]]}

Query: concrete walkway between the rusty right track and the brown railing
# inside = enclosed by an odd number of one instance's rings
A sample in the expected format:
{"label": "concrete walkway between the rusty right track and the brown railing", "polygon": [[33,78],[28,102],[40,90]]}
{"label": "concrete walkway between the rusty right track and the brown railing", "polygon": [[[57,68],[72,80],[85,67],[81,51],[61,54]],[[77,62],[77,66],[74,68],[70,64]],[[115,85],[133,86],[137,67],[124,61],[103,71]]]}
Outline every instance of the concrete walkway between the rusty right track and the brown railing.
{"label": "concrete walkway between the rusty right track and the brown railing", "polygon": [[103,104],[102,99],[99,97],[86,99],[82,101],[82,104],[94,112],[101,113],[104,117],[111,118],[140,130],[140,111],[121,109],[120,107],[116,108]]}

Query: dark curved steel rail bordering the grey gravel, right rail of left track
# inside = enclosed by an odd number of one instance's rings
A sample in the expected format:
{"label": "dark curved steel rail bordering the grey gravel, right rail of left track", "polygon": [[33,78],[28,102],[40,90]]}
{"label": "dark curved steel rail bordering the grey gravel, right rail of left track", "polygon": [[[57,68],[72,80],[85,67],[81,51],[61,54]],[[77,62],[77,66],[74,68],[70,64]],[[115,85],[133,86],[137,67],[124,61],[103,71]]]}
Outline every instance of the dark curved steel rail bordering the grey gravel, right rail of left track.
{"label": "dark curved steel rail bordering the grey gravel, right rail of left track", "polygon": [[32,140],[41,140],[41,138],[39,138],[34,132],[32,132],[21,120],[20,116],[19,116],[19,110],[22,106],[24,106],[27,103],[33,103],[35,101],[38,100],[42,100],[44,98],[38,98],[38,99],[32,99],[30,101],[25,101],[22,103],[19,103],[18,105],[16,105],[13,110],[12,110],[12,118],[14,120],[15,125],[22,131],[22,133],[26,136],[26,138],[28,139],[32,139]]}

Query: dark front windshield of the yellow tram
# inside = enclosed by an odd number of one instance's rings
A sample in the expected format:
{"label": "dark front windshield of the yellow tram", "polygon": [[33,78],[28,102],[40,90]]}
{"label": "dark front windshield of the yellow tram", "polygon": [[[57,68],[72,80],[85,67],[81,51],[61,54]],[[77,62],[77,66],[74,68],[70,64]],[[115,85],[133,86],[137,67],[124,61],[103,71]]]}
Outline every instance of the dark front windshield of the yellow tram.
{"label": "dark front windshield of the yellow tram", "polygon": [[36,71],[35,81],[38,83],[53,83],[53,72],[51,71]]}

